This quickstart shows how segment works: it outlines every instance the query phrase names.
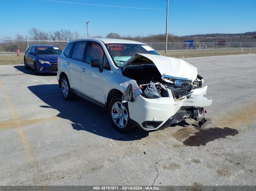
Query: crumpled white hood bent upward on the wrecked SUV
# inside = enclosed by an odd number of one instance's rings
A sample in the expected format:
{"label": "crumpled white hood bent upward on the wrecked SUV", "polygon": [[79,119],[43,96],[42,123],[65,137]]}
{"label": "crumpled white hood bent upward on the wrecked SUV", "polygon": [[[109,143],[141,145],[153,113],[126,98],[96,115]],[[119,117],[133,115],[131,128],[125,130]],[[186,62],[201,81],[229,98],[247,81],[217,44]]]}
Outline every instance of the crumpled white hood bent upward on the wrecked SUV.
{"label": "crumpled white hood bent upward on the wrecked SUV", "polygon": [[171,58],[167,56],[160,56],[154,54],[140,54],[137,53],[135,56],[131,57],[127,62],[122,65],[123,70],[128,65],[136,65],[138,63],[132,63],[135,59],[141,59],[145,61],[151,61],[155,64],[158,71],[164,77],[175,77],[175,78],[185,78],[191,80],[192,82],[197,78],[197,68],[193,65],[185,62],[182,59]]}

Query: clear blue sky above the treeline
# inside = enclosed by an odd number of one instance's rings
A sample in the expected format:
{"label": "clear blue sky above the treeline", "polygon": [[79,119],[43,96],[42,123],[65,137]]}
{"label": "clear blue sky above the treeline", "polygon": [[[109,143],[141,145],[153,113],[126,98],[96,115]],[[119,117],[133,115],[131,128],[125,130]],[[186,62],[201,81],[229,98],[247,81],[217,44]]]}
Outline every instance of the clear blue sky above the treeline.
{"label": "clear blue sky above the treeline", "polygon": [[[0,38],[27,35],[31,27],[43,31],[70,29],[90,36],[115,32],[146,36],[165,33],[166,0],[1,0]],[[162,10],[158,10],[162,9]],[[256,30],[256,0],[169,0],[168,32],[178,36],[206,33],[243,33]]]}

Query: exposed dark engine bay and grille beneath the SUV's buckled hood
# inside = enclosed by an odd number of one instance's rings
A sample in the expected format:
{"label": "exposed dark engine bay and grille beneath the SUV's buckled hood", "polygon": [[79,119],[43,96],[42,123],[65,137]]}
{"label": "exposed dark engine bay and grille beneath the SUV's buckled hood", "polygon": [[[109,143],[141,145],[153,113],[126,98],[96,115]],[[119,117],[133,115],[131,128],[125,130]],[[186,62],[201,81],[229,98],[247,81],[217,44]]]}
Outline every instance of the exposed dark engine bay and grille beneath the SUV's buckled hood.
{"label": "exposed dark engine bay and grille beneath the SUV's buckled hood", "polygon": [[148,99],[170,97],[167,91],[169,89],[174,100],[177,100],[189,95],[191,90],[201,88],[204,82],[200,75],[193,82],[189,79],[161,76],[154,64],[127,67],[123,75],[134,79],[141,91],[139,94]]}

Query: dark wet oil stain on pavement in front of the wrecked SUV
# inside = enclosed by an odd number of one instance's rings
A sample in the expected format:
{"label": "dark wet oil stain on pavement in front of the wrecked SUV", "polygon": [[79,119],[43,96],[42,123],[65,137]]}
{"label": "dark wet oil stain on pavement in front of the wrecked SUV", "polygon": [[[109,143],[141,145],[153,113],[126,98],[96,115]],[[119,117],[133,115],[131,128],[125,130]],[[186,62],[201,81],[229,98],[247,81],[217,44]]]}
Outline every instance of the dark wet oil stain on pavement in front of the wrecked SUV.
{"label": "dark wet oil stain on pavement in front of the wrecked SUV", "polygon": [[199,129],[199,131],[195,132],[194,135],[191,135],[187,139],[185,139],[183,144],[195,147],[198,147],[200,145],[205,146],[206,143],[214,141],[215,139],[226,138],[229,135],[234,136],[237,134],[238,130],[229,127],[224,127],[223,129],[219,127]]}

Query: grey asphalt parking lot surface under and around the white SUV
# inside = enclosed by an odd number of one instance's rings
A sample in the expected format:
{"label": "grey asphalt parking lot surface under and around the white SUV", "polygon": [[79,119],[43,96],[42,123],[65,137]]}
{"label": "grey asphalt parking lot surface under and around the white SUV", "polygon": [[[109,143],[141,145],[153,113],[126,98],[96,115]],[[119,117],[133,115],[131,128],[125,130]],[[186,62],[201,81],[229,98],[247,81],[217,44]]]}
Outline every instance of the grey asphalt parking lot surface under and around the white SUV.
{"label": "grey asphalt parking lot surface under and around the white SUV", "polygon": [[256,54],[184,60],[208,85],[208,121],[129,134],[65,101],[55,75],[0,65],[0,185],[256,185]]}

